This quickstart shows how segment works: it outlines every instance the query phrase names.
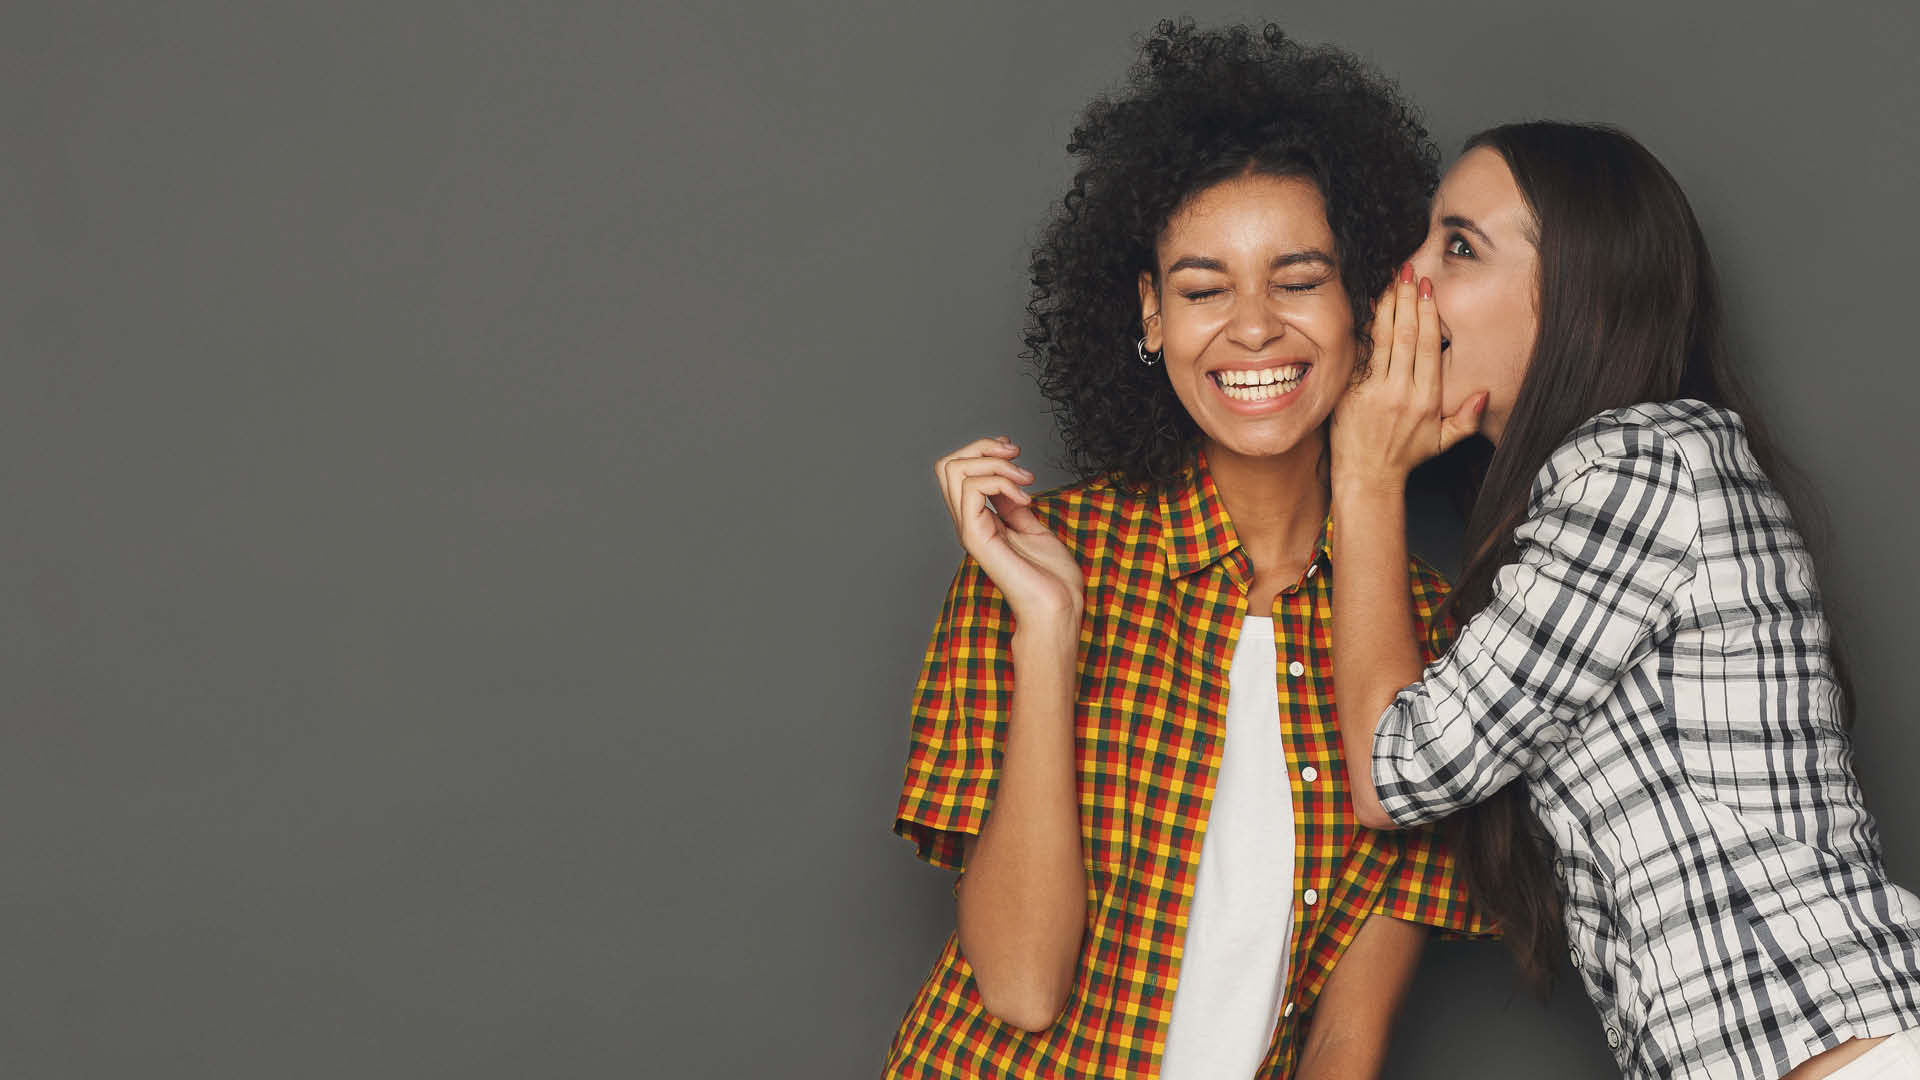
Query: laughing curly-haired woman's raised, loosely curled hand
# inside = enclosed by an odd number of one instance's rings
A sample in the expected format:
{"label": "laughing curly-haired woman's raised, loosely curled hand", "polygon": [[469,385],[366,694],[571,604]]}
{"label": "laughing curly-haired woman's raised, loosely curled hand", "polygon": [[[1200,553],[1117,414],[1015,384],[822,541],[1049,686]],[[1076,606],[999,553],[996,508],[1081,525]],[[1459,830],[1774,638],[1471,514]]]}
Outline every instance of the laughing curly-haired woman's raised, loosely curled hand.
{"label": "laughing curly-haired woman's raised, loosely curled hand", "polygon": [[960,546],[1006,596],[1020,625],[1052,623],[1077,634],[1087,578],[1073,552],[1033,513],[1033,482],[1006,436],[979,438],[933,465]]}

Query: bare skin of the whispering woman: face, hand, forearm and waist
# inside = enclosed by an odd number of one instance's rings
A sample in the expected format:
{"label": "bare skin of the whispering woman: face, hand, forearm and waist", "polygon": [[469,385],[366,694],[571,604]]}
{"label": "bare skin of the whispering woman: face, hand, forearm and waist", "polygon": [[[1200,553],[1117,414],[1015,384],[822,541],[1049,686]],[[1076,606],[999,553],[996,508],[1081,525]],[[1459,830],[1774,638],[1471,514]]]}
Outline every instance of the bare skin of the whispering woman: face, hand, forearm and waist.
{"label": "bare skin of the whispering woman: face, hand, forearm and waist", "polygon": [[[1379,717],[1423,671],[1400,580],[1407,473],[1475,432],[1496,444],[1505,432],[1538,332],[1536,238],[1505,160],[1488,148],[1465,154],[1434,196],[1427,240],[1375,307],[1367,380],[1334,413],[1332,646],[1348,761],[1373,759]],[[1396,828],[1371,773],[1350,774],[1359,822]],[[1849,1040],[1782,1080],[1830,1076],[1880,1042]]]}

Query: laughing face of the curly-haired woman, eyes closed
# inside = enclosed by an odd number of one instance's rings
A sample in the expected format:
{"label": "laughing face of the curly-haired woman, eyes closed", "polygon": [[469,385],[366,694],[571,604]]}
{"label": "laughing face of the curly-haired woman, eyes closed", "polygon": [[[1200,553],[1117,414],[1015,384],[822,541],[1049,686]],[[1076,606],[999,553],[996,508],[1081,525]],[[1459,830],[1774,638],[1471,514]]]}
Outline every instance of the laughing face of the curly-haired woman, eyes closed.
{"label": "laughing face of the curly-haired woman, eyes closed", "polygon": [[1319,454],[1354,375],[1354,307],[1311,181],[1242,175],[1188,198],[1140,275],[1146,348],[1210,454]]}

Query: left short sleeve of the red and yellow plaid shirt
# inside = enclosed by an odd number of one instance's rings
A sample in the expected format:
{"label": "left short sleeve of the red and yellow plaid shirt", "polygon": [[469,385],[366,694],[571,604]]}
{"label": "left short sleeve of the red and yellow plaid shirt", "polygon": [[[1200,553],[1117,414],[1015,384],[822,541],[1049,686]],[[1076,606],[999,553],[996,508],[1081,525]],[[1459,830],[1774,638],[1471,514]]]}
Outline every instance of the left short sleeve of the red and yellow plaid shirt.
{"label": "left short sleeve of the red and yellow plaid shirt", "polygon": [[962,844],[993,805],[1014,701],[1014,617],[970,555],[960,563],[914,686],[912,742],[893,830],[935,867],[962,869]]}

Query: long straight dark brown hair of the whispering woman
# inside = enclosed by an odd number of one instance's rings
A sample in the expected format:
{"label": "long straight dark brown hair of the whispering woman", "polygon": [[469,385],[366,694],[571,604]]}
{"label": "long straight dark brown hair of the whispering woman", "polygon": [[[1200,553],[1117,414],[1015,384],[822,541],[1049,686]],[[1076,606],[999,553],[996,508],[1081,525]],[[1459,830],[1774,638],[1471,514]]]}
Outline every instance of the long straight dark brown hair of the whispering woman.
{"label": "long straight dark brown hair of the whispering woman", "polygon": [[[1816,527],[1805,484],[1732,369],[1718,277],[1678,181],[1611,127],[1513,123],[1475,135],[1465,150],[1482,146],[1507,161],[1532,209],[1540,331],[1467,517],[1452,615],[1465,623],[1486,607],[1494,575],[1519,557],[1513,530],[1553,450],[1586,419],[1622,405],[1695,398],[1740,413],[1793,519]],[[1836,667],[1849,692],[1837,648]],[[1450,832],[1475,901],[1544,994],[1567,932],[1523,780],[1455,815]]]}

